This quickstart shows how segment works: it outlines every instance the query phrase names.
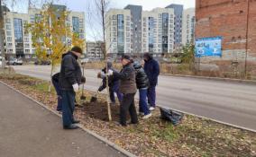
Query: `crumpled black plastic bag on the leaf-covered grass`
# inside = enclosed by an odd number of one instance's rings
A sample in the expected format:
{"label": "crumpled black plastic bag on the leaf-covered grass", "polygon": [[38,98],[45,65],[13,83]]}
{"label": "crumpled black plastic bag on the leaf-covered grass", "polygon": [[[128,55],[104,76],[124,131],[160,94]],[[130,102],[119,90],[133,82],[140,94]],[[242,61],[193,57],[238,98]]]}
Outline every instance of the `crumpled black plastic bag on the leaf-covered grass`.
{"label": "crumpled black plastic bag on the leaf-covered grass", "polygon": [[173,125],[178,125],[184,114],[172,109],[160,108],[160,118],[170,121]]}

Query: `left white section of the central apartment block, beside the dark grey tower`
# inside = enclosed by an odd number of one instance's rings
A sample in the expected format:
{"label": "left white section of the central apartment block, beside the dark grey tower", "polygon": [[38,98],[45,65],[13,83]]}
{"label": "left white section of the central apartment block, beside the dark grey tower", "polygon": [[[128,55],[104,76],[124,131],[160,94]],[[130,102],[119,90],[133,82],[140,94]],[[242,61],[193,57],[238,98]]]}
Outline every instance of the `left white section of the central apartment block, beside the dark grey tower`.
{"label": "left white section of the central apartment block, beside the dark grey tower", "polygon": [[131,53],[131,11],[110,9],[106,15],[106,52],[109,55]]}

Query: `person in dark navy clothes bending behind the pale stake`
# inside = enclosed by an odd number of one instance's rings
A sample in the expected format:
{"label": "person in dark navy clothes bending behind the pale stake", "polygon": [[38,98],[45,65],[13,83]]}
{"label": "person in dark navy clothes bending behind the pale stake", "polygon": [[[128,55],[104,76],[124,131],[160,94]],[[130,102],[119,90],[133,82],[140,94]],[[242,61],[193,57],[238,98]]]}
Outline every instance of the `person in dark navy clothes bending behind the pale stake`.
{"label": "person in dark navy clothes bending behind the pale stake", "polygon": [[[107,62],[107,69],[114,70],[112,63]],[[99,78],[102,78],[102,85],[98,88],[98,92],[102,92],[106,88],[106,79],[105,79],[105,68],[102,69],[102,71],[98,74]],[[117,77],[114,77],[114,75],[111,75],[108,77],[108,86],[109,86],[109,97],[112,104],[115,104],[115,98],[114,93],[116,94],[119,103],[121,104],[123,100],[123,94],[119,91],[119,79]]]}

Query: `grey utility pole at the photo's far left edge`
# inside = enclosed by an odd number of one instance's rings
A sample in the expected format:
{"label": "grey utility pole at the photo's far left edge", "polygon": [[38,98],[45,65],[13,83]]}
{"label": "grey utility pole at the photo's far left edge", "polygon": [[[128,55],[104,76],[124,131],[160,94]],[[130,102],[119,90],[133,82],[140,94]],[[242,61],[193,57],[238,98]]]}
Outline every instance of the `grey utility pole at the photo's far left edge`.
{"label": "grey utility pole at the photo's far left edge", "polygon": [[[4,32],[4,7],[0,0],[0,49],[3,61],[5,60],[5,32]],[[5,61],[2,62],[2,68],[5,68]]]}

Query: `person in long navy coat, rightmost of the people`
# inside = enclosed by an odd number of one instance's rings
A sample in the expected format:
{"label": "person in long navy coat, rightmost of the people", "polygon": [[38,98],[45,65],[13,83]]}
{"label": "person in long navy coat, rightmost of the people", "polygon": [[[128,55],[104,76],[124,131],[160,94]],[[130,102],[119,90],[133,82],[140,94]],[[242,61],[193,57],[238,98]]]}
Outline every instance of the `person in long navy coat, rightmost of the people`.
{"label": "person in long navy coat, rightmost of the people", "polygon": [[148,100],[151,105],[150,110],[153,110],[156,107],[156,86],[158,84],[158,77],[160,74],[160,65],[149,53],[145,53],[143,58],[145,61],[144,70],[150,80]]}

